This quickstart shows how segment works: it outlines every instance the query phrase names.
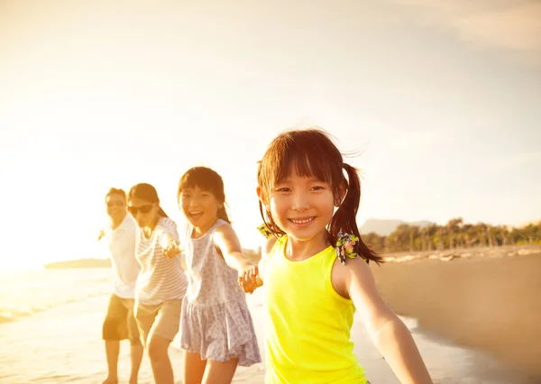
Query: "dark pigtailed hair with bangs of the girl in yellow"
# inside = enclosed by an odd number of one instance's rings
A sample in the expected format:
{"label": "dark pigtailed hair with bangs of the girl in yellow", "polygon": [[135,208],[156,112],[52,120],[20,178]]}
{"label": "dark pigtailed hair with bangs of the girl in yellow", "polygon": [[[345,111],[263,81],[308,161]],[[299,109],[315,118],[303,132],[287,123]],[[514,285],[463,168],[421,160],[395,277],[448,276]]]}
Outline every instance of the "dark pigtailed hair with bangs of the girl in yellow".
{"label": "dark pigtailed hair with bangs of the girl in yellow", "polygon": [[[344,170],[347,178],[344,176]],[[344,163],[328,134],[320,129],[296,130],[281,133],[269,145],[259,163],[257,182],[262,200],[268,206],[270,191],[280,181],[295,171],[299,177],[315,177],[328,183],[333,190],[338,209],[328,226],[328,239],[336,246],[338,233],[350,233],[359,238],[353,251],[366,261],[381,263],[381,256],[362,242],[356,216],[361,201],[361,181],[357,169]],[[344,196],[345,195],[345,196]],[[271,212],[264,211],[260,201],[263,221],[272,233],[280,237],[285,233],[272,220]]]}

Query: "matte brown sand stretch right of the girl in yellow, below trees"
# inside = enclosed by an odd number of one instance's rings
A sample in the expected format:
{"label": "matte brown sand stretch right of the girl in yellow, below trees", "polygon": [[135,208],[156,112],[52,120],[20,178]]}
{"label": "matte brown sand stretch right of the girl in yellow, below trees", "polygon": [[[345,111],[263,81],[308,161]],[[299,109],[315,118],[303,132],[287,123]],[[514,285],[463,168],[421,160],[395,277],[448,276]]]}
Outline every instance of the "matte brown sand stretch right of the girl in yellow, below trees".
{"label": "matte brown sand stretch right of the girl in yellow, below trees", "polygon": [[389,256],[413,259],[372,267],[397,313],[541,382],[541,245]]}

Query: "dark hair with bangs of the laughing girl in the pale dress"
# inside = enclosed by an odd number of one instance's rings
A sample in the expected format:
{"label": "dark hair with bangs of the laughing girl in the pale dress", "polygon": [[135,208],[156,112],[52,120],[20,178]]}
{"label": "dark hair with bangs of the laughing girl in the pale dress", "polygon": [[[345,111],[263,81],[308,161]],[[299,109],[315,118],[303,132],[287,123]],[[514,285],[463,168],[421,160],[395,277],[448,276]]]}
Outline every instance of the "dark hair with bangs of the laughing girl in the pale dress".
{"label": "dark hair with bangs of the laughing girl in the pale dress", "polygon": [[231,223],[227,211],[225,211],[224,180],[213,169],[206,167],[194,167],[182,175],[179,180],[177,201],[182,191],[187,188],[199,187],[199,189],[212,193],[222,206],[218,208],[218,218]]}

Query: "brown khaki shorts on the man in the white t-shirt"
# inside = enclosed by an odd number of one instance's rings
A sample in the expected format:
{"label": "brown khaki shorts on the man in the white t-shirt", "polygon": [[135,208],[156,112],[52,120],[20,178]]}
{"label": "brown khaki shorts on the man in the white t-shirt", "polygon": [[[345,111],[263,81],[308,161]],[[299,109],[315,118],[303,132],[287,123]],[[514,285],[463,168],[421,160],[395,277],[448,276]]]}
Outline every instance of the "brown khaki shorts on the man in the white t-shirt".
{"label": "brown khaki shorts on the man in the white t-shirt", "polygon": [[132,345],[141,344],[139,330],[133,316],[133,298],[112,294],[103,325],[104,340],[130,340]]}

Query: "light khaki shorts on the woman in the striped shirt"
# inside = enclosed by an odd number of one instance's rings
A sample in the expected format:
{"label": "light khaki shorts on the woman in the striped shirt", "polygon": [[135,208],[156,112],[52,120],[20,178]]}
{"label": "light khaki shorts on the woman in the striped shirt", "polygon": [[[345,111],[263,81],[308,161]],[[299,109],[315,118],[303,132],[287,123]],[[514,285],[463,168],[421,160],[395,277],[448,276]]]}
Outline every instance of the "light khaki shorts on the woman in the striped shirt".
{"label": "light khaki shorts on the woman in the striped shirt", "polygon": [[182,299],[166,300],[157,306],[135,304],[135,320],[139,325],[142,342],[146,344],[149,334],[159,334],[171,342],[179,333]]}

